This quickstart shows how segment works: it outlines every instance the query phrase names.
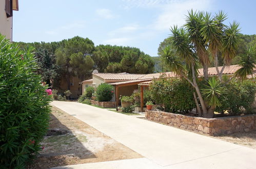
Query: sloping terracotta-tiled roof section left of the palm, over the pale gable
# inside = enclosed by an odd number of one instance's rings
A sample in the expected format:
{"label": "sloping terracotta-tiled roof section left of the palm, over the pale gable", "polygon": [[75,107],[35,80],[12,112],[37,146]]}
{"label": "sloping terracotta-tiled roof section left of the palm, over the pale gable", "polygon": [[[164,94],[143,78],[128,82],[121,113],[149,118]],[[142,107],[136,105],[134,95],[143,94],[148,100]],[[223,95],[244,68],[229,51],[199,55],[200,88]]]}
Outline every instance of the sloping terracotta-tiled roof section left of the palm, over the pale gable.
{"label": "sloping terracotta-tiled roof section left of the palm, over the pale gable", "polygon": [[103,78],[104,80],[136,80],[145,74],[124,74],[124,73],[93,73],[93,75]]}

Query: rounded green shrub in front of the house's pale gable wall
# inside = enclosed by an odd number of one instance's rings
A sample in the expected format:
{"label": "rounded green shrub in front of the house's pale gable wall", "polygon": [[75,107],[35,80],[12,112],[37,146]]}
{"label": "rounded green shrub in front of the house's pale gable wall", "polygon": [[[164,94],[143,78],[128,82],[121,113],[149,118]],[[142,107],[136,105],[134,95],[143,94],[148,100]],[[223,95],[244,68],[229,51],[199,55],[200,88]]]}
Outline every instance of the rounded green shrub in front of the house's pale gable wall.
{"label": "rounded green shrub in front of the house's pale gable wall", "polygon": [[114,87],[107,83],[101,83],[96,89],[96,98],[98,101],[110,101],[114,94]]}

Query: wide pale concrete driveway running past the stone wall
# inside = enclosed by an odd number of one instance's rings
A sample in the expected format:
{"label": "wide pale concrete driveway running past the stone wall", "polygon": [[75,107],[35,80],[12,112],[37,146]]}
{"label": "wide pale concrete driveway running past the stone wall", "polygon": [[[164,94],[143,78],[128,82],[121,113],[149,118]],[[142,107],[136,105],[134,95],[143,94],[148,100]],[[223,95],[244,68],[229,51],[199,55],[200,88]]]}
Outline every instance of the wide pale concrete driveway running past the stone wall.
{"label": "wide pale concrete driveway running past the stone wall", "polygon": [[[78,102],[51,104],[141,154],[150,168],[256,168],[256,150],[248,147]],[[112,168],[126,168],[115,162]]]}

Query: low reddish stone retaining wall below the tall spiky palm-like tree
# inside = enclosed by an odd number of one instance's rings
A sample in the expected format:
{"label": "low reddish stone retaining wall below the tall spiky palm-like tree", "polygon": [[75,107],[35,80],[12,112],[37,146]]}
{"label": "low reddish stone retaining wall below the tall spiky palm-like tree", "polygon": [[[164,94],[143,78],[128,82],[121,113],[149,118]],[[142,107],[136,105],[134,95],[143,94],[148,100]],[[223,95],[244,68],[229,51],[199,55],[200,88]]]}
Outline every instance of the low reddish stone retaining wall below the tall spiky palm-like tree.
{"label": "low reddish stone retaining wall below the tall spiky palm-like tree", "polygon": [[202,118],[146,110],[145,117],[148,120],[209,135],[231,134],[256,130],[256,115]]}

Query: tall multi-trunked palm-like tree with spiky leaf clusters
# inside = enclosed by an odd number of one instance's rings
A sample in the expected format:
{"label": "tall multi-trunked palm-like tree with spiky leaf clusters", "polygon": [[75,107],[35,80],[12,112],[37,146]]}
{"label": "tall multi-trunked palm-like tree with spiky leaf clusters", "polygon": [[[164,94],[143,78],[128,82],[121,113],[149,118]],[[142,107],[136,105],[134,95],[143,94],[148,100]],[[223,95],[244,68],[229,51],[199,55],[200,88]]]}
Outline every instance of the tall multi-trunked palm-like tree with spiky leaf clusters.
{"label": "tall multi-trunked palm-like tree with spiky leaf clusters", "polygon": [[[229,65],[235,55],[239,35],[239,25],[234,22],[227,27],[223,24],[225,19],[226,14],[222,11],[211,17],[210,13],[194,13],[191,10],[187,16],[185,27],[171,27],[171,46],[167,46],[160,55],[165,66],[187,79],[194,87],[202,108],[202,116],[207,118],[213,117],[215,108],[220,105],[218,97],[225,90],[219,82],[210,78],[208,80],[209,88],[204,91],[204,98],[197,83],[197,68],[199,64],[203,66],[204,77],[207,80],[210,53],[215,59],[215,67],[220,81],[222,80],[221,74],[224,69],[221,71],[218,69],[218,55],[221,53],[225,64]],[[194,98],[196,107],[199,109],[195,94]]]}

